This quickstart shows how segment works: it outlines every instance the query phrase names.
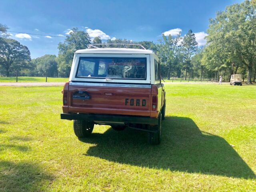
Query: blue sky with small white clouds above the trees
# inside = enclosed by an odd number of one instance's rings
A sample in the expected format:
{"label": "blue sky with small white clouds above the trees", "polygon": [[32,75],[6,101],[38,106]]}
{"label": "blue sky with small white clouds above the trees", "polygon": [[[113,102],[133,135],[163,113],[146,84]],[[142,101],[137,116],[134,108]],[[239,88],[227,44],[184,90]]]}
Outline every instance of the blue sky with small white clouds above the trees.
{"label": "blue sky with small white clouds above the trees", "polygon": [[[226,6],[242,0],[1,0],[0,23],[6,24],[11,38],[28,46],[31,57],[58,54],[70,29],[87,31],[92,39],[126,38],[157,42],[161,34],[182,36],[189,29],[199,45],[209,18]],[[32,35],[42,34],[46,36]],[[50,37],[59,36],[59,37]]]}

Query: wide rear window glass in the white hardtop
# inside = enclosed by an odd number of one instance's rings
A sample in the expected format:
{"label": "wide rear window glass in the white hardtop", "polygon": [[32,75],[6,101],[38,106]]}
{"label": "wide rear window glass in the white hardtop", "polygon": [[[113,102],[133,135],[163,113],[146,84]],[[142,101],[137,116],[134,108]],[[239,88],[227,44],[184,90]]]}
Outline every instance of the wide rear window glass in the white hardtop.
{"label": "wide rear window glass in the white hardtop", "polygon": [[92,58],[79,60],[76,78],[146,80],[146,58]]}

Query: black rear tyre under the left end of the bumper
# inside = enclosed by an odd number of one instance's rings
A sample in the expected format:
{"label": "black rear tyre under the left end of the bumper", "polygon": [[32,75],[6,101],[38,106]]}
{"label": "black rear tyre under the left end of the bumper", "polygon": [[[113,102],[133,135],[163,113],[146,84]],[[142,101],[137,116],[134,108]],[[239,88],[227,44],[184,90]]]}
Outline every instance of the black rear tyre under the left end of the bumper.
{"label": "black rear tyre under the left end of the bumper", "polygon": [[94,122],[84,120],[74,120],[73,128],[78,138],[88,137],[93,130]]}

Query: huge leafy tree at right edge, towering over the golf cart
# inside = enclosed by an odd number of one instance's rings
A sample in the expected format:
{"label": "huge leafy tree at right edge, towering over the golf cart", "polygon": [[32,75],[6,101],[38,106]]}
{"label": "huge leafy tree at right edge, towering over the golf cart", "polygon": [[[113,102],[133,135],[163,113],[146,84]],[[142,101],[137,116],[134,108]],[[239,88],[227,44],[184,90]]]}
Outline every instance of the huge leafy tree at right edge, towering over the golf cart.
{"label": "huge leafy tree at right edge, towering over the golf cart", "polygon": [[[246,83],[251,83],[256,63],[256,1],[226,7],[210,19],[207,42],[213,49],[222,47],[222,56],[230,56],[248,70]],[[230,62],[232,63],[230,59]]]}

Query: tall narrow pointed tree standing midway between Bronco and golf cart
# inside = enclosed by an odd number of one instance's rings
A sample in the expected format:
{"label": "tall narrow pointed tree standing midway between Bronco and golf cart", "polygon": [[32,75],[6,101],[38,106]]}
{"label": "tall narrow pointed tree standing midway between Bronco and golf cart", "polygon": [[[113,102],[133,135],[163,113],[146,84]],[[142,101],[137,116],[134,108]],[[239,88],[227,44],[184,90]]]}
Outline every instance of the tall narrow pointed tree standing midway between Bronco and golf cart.
{"label": "tall narrow pointed tree standing midway between Bronco and golf cart", "polygon": [[184,36],[182,41],[184,51],[185,62],[185,80],[187,79],[187,72],[191,67],[191,57],[195,54],[197,48],[196,36],[192,30],[188,30],[188,33]]}

